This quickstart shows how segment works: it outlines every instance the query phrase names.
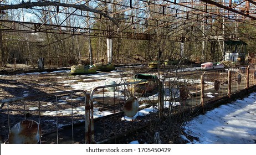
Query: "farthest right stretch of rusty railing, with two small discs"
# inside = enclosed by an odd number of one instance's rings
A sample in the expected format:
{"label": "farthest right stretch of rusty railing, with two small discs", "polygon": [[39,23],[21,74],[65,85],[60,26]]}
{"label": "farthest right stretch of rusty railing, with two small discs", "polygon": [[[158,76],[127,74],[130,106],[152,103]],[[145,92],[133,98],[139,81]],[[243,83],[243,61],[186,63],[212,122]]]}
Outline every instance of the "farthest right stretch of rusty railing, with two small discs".
{"label": "farthest right stretch of rusty railing, with two small discs", "polygon": [[238,66],[224,70],[210,70],[202,74],[201,103],[231,97],[239,91],[255,86],[255,66]]}

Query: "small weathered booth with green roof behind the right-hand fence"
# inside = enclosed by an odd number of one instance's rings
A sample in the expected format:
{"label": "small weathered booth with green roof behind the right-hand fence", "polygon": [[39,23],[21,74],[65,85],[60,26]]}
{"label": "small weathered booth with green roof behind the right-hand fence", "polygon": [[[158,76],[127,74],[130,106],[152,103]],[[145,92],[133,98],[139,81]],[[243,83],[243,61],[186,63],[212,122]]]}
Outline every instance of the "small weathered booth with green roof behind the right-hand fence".
{"label": "small weathered booth with green roof behind the right-hand fence", "polygon": [[224,59],[244,63],[247,43],[242,40],[226,40],[224,43]]}

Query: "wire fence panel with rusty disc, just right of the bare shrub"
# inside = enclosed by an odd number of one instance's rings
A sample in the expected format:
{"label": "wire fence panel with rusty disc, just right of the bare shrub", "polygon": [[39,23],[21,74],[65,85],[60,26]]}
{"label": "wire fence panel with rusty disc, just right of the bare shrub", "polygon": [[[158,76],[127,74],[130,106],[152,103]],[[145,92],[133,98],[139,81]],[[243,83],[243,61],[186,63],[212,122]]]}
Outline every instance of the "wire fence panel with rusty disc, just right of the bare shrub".
{"label": "wire fence panel with rusty disc, just right of the bare shrub", "polygon": [[168,113],[200,105],[201,74],[178,74],[165,79],[165,108]]}

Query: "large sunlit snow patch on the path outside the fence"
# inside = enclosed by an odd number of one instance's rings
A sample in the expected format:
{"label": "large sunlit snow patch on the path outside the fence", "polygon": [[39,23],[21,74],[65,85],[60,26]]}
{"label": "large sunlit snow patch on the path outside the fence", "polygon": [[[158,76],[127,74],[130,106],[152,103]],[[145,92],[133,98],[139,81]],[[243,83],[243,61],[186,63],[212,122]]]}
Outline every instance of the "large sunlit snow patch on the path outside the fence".
{"label": "large sunlit snow patch on the path outside the fence", "polygon": [[198,141],[189,143],[256,143],[256,92],[193,118],[186,123],[185,130],[198,137]]}

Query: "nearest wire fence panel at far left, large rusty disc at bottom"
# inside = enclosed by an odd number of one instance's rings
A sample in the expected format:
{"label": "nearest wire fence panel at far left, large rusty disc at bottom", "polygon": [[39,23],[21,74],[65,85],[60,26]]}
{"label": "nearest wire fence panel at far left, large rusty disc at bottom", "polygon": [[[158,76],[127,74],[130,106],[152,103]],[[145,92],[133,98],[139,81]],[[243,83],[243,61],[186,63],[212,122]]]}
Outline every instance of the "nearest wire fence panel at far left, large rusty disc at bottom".
{"label": "nearest wire fence panel at far left, large rusty disc at bottom", "polygon": [[[29,128],[38,123],[40,141],[38,143],[84,143],[85,142],[85,104],[86,93],[83,90],[63,91],[52,94],[16,97],[1,100],[2,139],[9,143],[27,143],[27,141],[11,141],[27,135],[35,135]],[[25,123],[30,121],[28,125]],[[24,126],[24,131],[17,127]],[[80,126],[78,132],[74,126]],[[63,130],[65,128],[65,131]],[[21,133],[20,133],[21,132]],[[27,135],[24,135],[27,134]],[[28,142],[30,143],[30,142]]]}

